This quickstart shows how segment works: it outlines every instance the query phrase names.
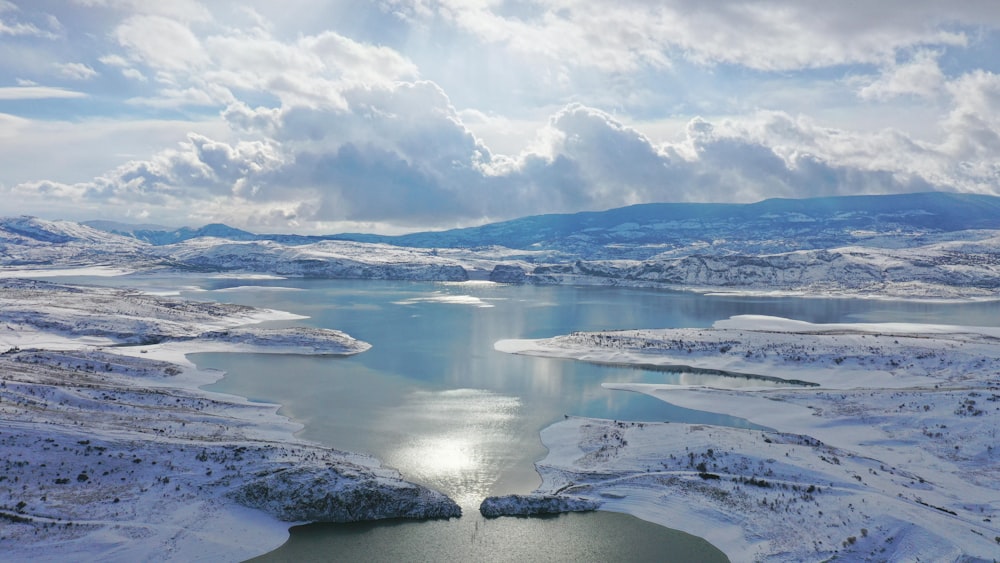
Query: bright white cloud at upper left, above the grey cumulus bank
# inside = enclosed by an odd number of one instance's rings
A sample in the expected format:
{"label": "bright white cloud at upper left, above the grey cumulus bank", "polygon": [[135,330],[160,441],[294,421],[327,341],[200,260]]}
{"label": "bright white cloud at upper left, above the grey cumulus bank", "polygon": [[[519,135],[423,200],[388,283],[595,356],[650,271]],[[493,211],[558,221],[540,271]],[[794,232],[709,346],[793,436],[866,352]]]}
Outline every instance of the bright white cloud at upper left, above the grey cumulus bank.
{"label": "bright white cloud at upper left, above the grey cumulus bank", "polygon": [[281,41],[263,27],[210,29],[197,34],[187,22],[129,16],[114,30],[127,58],[107,54],[100,61],[137,81],[150,75],[143,67],[152,71],[159,90],[129,102],[160,108],[224,107],[234,91],[274,96],[284,106],[343,108],[345,88],[419,75],[398,52],[332,31]]}

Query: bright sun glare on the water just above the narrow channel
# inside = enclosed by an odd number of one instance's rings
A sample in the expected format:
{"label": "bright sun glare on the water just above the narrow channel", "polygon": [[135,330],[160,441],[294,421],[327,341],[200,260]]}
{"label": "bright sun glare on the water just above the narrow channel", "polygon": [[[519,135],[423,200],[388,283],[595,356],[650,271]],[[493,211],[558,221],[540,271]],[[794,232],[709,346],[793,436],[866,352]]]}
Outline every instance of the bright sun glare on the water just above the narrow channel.
{"label": "bright sun glare on the water just above the narrow channel", "polygon": [[463,506],[478,506],[510,461],[505,456],[517,441],[512,425],[520,408],[516,397],[477,389],[411,393],[376,417],[400,434],[385,461]]}

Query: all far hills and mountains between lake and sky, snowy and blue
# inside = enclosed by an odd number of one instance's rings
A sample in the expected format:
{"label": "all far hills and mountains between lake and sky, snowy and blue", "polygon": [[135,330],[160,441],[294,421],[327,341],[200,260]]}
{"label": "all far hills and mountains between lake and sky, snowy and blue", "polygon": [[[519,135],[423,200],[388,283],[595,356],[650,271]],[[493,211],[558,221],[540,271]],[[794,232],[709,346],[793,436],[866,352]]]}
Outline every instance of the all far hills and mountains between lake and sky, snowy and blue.
{"label": "all far hills and mountains between lake and sky, snowy and blue", "polygon": [[14,269],[94,265],[994,299],[1000,297],[1000,198],[919,193],[648,204],[394,237],[0,219],[0,277]]}

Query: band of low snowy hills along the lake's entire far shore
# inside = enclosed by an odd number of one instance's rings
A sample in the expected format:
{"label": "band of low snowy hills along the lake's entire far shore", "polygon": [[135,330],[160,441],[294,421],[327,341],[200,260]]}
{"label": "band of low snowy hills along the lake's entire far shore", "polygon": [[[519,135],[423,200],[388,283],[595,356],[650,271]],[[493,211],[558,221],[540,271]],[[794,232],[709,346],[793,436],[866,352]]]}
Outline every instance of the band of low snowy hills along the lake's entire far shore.
{"label": "band of low snowy hills along the lake's entire far shore", "polygon": [[[701,241],[671,247],[660,254],[639,252],[645,256],[639,260],[634,254],[644,244],[604,247],[598,240],[587,242],[586,236],[573,239],[576,242],[570,246],[576,252],[541,247],[517,250],[479,244],[474,238],[463,239],[463,244],[454,248],[347,240],[291,244],[211,236],[154,246],[67,221],[15,217],[0,218],[0,275],[53,277],[88,270],[101,275],[198,271],[230,276],[421,281],[488,278],[517,284],[662,287],[771,295],[1000,299],[998,230],[925,232],[918,236],[909,230],[889,228],[862,239],[845,233],[810,233],[812,243],[807,248],[795,249],[791,244],[789,250],[781,251],[789,247],[789,241],[748,245],[743,237],[716,237],[711,244]],[[800,236],[805,233],[795,235]],[[821,242],[822,246],[815,246]],[[595,255],[609,258],[582,259]]]}

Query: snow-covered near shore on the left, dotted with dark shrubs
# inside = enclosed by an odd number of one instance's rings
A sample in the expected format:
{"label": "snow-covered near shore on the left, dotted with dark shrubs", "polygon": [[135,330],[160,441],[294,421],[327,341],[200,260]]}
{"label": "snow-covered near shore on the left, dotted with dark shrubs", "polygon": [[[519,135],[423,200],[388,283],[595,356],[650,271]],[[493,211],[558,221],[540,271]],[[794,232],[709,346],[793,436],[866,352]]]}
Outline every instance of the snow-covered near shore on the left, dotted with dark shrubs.
{"label": "snow-covered near shore on the left, dotted with dark shrubs", "polygon": [[[210,393],[193,351],[353,354],[294,316],[0,280],[0,559],[242,560],[290,523],[450,517],[365,455],[293,437],[277,405]],[[276,377],[279,375],[276,374]]]}

